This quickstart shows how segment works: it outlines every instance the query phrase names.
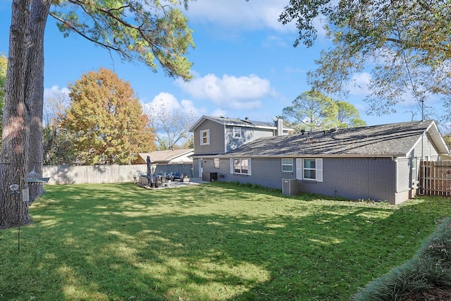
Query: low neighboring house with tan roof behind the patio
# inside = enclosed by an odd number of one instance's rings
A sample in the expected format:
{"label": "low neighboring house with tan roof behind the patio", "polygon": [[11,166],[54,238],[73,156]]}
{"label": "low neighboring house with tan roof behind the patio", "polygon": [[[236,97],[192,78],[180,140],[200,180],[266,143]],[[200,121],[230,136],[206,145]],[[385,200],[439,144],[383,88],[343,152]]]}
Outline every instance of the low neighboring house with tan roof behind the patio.
{"label": "low neighboring house with tan roof behind the patio", "polygon": [[147,164],[147,156],[155,166],[155,173],[185,173],[192,176],[192,154],[194,149],[169,149],[139,153],[135,164]]}

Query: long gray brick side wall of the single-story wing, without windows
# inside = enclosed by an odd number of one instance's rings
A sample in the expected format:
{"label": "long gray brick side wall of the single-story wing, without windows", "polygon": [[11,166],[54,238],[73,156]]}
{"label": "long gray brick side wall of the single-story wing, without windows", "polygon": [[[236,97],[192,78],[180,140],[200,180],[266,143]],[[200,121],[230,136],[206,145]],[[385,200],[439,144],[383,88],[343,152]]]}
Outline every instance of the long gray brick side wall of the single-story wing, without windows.
{"label": "long gray brick side wall of the single-story wing, without windows", "polygon": [[[282,179],[296,178],[294,172],[282,172],[280,158],[252,158],[252,175],[230,173],[230,159],[220,159],[219,168],[214,168],[213,158],[204,159],[204,172],[218,173],[218,180],[252,183],[268,188],[282,189]],[[195,166],[198,164],[194,163]],[[299,180],[299,192],[316,193],[347,199],[373,199],[395,204],[396,164],[392,159],[373,158],[324,158],[323,182]],[[222,175],[222,176],[221,176]],[[404,199],[405,200],[405,199]]]}

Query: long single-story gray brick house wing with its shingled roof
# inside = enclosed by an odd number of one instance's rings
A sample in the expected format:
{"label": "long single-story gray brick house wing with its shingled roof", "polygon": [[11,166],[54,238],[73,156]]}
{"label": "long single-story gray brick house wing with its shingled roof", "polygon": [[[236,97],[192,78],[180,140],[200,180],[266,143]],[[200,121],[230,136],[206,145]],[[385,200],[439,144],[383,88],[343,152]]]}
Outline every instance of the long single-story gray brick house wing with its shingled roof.
{"label": "long single-story gray brick house wing with its shingled roof", "polygon": [[419,161],[448,154],[435,121],[412,121],[260,137],[218,154],[197,154],[195,145],[193,166],[202,160],[202,171],[217,173],[218,180],[290,195],[311,192],[400,204],[416,195]]}

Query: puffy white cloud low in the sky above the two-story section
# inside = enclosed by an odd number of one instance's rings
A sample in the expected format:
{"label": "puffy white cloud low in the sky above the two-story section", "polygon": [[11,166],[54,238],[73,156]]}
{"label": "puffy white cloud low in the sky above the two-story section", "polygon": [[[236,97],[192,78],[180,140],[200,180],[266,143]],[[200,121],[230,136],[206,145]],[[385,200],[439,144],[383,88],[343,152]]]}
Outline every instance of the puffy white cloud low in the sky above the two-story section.
{"label": "puffy white cloud low in the sky above the two-story section", "polygon": [[207,74],[190,82],[176,80],[176,83],[195,99],[208,99],[218,106],[232,109],[259,108],[261,99],[276,94],[269,80],[254,74],[238,78],[232,75],[218,78]]}

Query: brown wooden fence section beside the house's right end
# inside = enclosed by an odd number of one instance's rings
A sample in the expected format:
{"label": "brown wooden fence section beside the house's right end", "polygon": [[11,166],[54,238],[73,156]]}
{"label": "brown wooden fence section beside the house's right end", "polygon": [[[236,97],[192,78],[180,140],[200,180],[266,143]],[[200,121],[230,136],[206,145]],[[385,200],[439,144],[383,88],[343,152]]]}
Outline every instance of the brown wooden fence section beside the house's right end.
{"label": "brown wooden fence section beside the house's right end", "polygon": [[451,197],[451,161],[421,161],[420,194]]}

